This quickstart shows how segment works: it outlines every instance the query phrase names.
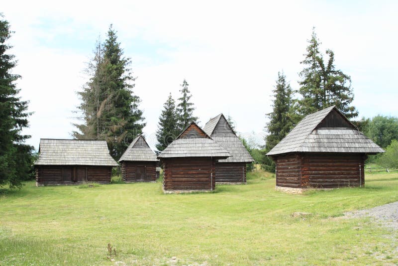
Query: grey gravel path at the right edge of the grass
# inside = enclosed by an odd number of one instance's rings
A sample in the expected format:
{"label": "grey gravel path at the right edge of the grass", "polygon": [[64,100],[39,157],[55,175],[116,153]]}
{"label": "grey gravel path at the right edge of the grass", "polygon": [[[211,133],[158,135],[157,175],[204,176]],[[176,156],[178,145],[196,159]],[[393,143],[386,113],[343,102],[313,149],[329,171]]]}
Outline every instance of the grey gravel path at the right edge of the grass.
{"label": "grey gravel path at the right edge of the grass", "polygon": [[346,212],[345,218],[373,217],[384,226],[398,231],[398,201],[372,209]]}

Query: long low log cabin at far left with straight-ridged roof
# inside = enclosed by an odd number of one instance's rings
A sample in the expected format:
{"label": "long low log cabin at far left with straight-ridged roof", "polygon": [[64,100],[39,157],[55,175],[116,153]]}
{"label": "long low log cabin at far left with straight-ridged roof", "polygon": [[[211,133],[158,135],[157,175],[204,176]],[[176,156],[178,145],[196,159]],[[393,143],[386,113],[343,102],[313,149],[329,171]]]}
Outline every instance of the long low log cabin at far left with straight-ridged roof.
{"label": "long low log cabin at far left with straight-ridged roof", "polygon": [[42,138],[34,163],[36,186],[109,183],[114,166],[105,140]]}

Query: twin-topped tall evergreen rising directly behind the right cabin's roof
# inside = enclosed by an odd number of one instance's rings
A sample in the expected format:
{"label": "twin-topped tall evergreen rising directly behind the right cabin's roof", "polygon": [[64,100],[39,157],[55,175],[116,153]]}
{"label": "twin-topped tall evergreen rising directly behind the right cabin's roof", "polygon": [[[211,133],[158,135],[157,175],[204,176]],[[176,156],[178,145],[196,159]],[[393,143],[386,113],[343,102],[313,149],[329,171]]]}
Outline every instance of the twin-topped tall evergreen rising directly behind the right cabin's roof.
{"label": "twin-topped tall evergreen rising directly behind the right cabin's roof", "polygon": [[329,59],[325,64],[319,51],[319,39],[315,29],[312,30],[311,39],[308,40],[305,58],[300,63],[305,67],[299,73],[301,81],[298,93],[298,113],[301,117],[316,112],[325,107],[336,105],[347,117],[355,118],[358,112],[351,106],[354,99],[351,78],[334,66],[334,53],[326,50]]}

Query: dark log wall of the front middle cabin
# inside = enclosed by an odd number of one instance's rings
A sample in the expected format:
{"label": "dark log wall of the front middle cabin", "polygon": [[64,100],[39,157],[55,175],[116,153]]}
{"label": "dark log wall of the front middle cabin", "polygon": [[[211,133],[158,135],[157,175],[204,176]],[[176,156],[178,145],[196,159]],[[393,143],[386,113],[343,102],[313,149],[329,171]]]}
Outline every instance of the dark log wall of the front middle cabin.
{"label": "dark log wall of the front middle cabin", "polygon": [[164,158],[164,190],[213,190],[215,188],[212,158]]}

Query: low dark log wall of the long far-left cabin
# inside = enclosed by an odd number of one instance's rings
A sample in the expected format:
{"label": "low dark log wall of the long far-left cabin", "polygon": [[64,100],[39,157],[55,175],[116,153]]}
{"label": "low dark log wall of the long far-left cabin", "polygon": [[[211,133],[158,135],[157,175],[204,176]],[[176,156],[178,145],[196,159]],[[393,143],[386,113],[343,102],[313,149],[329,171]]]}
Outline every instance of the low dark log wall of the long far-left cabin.
{"label": "low dark log wall of the long far-left cabin", "polygon": [[37,185],[76,184],[84,181],[109,183],[110,166],[48,165],[36,166]]}

